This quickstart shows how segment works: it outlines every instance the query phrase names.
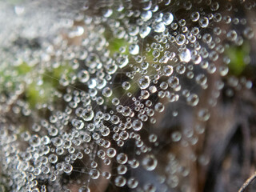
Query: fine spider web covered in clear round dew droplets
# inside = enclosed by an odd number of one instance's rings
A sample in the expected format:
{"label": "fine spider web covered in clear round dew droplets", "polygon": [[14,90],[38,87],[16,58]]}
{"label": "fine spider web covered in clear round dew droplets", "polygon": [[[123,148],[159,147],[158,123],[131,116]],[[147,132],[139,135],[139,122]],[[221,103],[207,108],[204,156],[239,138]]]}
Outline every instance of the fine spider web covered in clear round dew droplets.
{"label": "fine spider web covered in clear round dew droplets", "polygon": [[190,191],[253,87],[254,1],[1,5],[0,190]]}

